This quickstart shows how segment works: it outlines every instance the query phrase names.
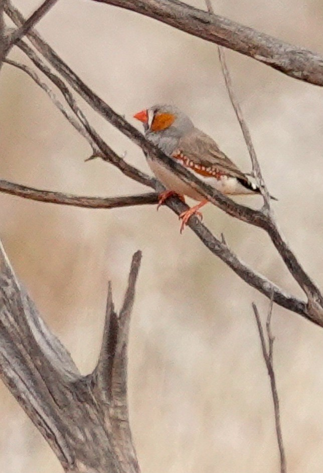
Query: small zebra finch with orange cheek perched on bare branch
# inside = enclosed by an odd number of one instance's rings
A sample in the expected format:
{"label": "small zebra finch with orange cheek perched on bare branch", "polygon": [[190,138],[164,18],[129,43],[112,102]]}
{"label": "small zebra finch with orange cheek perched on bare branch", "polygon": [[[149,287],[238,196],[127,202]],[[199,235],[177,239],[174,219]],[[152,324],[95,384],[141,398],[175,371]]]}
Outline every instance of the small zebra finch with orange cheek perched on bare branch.
{"label": "small zebra finch with orange cheek perched on bare branch", "polygon": [[[153,105],[133,115],[143,123],[146,138],[161,151],[188,168],[195,176],[223,194],[259,194],[259,187],[219,149],[217,143],[206,133],[196,128],[192,120],[174,105]],[[208,203],[204,196],[186,184],[163,163],[149,155],[147,163],[164,184],[167,191],[159,195],[158,207],[172,195],[185,202],[184,195],[199,204],[180,215],[181,233],[192,215],[198,215],[201,207]]]}

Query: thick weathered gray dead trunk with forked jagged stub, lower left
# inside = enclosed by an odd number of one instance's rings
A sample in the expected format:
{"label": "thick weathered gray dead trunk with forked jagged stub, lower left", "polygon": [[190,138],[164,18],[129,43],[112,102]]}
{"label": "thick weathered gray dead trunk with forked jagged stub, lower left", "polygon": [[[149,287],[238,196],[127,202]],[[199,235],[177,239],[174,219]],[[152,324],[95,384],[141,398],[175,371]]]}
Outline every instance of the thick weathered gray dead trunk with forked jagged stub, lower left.
{"label": "thick weathered gray dead trunk with forked jagged stub, lower left", "polygon": [[82,376],[0,247],[0,375],[68,473],[138,473],[127,408],[127,342],[141,253],[119,313],[108,287],[98,363]]}

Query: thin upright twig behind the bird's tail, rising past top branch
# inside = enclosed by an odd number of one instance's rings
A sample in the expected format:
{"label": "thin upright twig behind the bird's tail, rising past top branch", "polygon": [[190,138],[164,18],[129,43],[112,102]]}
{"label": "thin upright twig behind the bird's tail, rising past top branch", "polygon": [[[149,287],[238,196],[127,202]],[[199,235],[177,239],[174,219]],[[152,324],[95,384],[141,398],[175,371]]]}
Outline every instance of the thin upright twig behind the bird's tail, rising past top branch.
{"label": "thin upright twig behind the bird's tail, rising past top branch", "polygon": [[[214,9],[213,9],[211,0],[205,0],[205,3],[206,3],[206,6],[207,6],[207,9],[208,9],[208,12],[211,15],[214,15]],[[250,159],[251,159],[251,163],[252,163],[253,176],[254,176],[254,178],[256,180],[256,183],[260,188],[260,192],[263,196],[264,208],[267,211],[270,211],[270,195],[269,195],[268,189],[266,187],[266,184],[265,184],[264,179],[263,179],[262,174],[261,174],[260,165],[259,165],[259,162],[258,162],[258,159],[257,159],[257,154],[256,154],[256,151],[255,151],[255,148],[253,146],[253,142],[252,142],[252,139],[251,139],[249,127],[248,127],[247,122],[246,122],[246,120],[243,116],[243,113],[242,113],[242,110],[241,110],[241,107],[240,107],[240,103],[239,103],[239,101],[236,97],[236,94],[234,92],[234,88],[233,88],[233,85],[232,85],[231,74],[230,74],[230,71],[229,71],[228,66],[227,66],[227,62],[226,62],[226,58],[225,58],[225,52],[224,52],[224,48],[222,46],[218,46],[218,55],[219,55],[222,74],[223,74],[223,77],[224,77],[224,80],[225,80],[225,85],[226,85],[226,88],[227,88],[227,91],[228,91],[228,95],[229,95],[230,101],[232,103],[233,109],[235,111],[235,114],[237,116],[237,119],[239,121],[241,130],[242,130],[242,133],[243,133],[243,137],[244,137],[244,140],[246,142],[246,145],[247,145],[247,148],[248,148],[248,151],[249,151],[249,155],[250,155]]]}

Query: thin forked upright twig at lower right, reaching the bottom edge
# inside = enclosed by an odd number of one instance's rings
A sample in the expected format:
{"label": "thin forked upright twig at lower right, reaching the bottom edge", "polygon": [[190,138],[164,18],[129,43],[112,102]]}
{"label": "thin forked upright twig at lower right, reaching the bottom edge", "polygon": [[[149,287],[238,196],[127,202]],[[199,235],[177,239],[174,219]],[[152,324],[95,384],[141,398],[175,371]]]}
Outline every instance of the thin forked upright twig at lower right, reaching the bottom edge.
{"label": "thin forked upright twig at lower right, reaching the bottom edge", "polygon": [[271,297],[271,300],[270,300],[270,305],[269,305],[267,320],[266,320],[266,334],[267,334],[267,339],[268,339],[268,347],[267,347],[257,306],[254,302],[252,303],[252,308],[255,314],[257,328],[258,328],[260,342],[261,342],[262,355],[263,355],[263,359],[265,361],[266,368],[268,371],[268,376],[270,379],[271,395],[272,395],[274,413],[275,413],[276,437],[277,437],[277,443],[278,443],[279,455],[280,455],[280,473],[286,473],[287,471],[286,470],[286,457],[285,457],[285,450],[284,450],[284,444],[283,444],[282,433],[281,433],[281,425],[280,425],[279,397],[278,397],[278,392],[277,392],[275,371],[273,367],[274,337],[272,336],[271,326],[270,326],[272,307],[273,307],[273,296]]}

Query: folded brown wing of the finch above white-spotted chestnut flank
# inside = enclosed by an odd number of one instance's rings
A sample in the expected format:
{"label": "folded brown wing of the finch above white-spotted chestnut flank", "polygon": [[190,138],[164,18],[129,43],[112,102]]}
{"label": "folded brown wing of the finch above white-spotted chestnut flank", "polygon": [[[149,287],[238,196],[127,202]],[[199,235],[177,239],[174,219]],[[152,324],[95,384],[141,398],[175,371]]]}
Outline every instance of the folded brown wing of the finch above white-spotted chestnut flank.
{"label": "folded brown wing of the finch above white-spotted chestnut flank", "polygon": [[178,149],[173,153],[176,159],[203,176],[229,175],[248,181],[248,178],[218,147],[206,133],[195,128],[180,138]]}

